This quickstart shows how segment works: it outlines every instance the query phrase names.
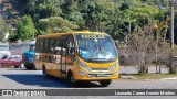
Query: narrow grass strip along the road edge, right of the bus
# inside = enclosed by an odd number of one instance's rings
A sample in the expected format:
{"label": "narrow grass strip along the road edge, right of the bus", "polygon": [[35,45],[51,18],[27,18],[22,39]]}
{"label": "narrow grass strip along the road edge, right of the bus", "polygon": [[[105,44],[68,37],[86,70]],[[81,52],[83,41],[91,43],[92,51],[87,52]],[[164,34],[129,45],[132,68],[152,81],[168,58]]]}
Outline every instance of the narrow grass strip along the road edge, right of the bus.
{"label": "narrow grass strip along the road edge, right of the bus", "polygon": [[122,75],[122,76],[133,76],[137,79],[162,79],[169,77],[177,77],[177,74],[131,74],[131,75]]}

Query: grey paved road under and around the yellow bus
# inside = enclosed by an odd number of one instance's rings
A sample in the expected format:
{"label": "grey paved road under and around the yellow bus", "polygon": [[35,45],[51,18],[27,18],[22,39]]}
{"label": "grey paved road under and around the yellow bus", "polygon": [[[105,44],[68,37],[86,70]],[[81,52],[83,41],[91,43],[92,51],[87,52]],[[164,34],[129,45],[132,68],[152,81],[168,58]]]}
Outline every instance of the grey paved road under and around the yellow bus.
{"label": "grey paved road under and around the yellow bus", "polygon": [[[84,82],[81,84],[79,87],[71,87],[67,85],[66,80],[59,79],[59,78],[46,78],[42,75],[41,70],[25,70],[22,68],[0,68],[0,89],[61,89],[61,88],[70,88],[70,89],[177,89],[177,80],[133,80],[133,79],[115,79],[113,80],[112,85],[108,87],[102,87],[97,82]],[[1,98],[1,97],[0,97]],[[4,99],[9,99],[10,97],[6,97]],[[14,97],[14,99],[19,99],[20,97]],[[27,97],[25,97],[27,98]],[[101,96],[101,97],[93,97],[93,96],[84,96],[84,97],[45,97],[41,99],[87,99],[87,98],[97,98],[97,99],[128,99],[135,98],[140,99],[140,97],[123,97],[123,96]],[[144,97],[143,97],[144,98]],[[149,99],[149,97],[145,97],[145,99]],[[152,97],[150,97],[152,98]],[[156,97],[165,99],[167,97]],[[153,99],[156,99],[153,98]],[[174,97],[168,97],[173,99]],[[20,99],[23,99],[22,97]],[[28,97],[27,99],[32,99]],[[174,98],[175,99],[175,98]]]}

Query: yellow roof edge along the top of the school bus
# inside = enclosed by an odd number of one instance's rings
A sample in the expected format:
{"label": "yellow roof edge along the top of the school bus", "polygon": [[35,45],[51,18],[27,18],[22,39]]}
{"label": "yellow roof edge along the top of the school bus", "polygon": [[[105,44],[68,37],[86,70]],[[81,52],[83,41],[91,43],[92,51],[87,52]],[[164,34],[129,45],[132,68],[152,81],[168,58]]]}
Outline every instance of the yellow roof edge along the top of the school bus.
{"label": "yellow roof edge along the top of the school bus", "polygon": [[53,37],[53,36],[61,36],[61,35],[69,35],[69,34],[106,34],[106,33],[101,33],[101,32],[91,32],[91,31],[75,31],[75,32],[63,32],[63,33],[52,33],[52,34],[46,34],[46,35],[39,35],[38,37]]}

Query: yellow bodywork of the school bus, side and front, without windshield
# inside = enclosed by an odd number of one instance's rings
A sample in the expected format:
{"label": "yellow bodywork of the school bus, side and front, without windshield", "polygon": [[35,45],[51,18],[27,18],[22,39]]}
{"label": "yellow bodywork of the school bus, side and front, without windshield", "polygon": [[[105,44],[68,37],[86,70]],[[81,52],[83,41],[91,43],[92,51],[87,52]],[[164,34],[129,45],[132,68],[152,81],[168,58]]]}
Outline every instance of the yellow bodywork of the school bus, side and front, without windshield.
{"label": "yellow bodywork of the school bus, side and front, without windshield", "polygon": [[[84,61],[81,56],[77,55],[77,43],[75,38],[75,34],[77,33],[83,33],[83,34],[93,34],[93,32],[74,32],[74,33],[61,33],[61,34],[51,34],[51,35],[40,35],[38,37],[39,41],[37,42],[35,45],[38,47],[39,45],[39,52],[35,52],[35,68],[42,69],[42,66],[45,67],[46,73],[52,76],[56,76],[60,78],[66,78],[69,70],[72,72],[74,79],[76,80],[103,80],[103,79],[117,79],[118,78],[118,69],[119,69],[119,61],[118,57],[114,61],[111,62],[87,62]],[[107,35],[105,33],[94,33],[93,35]],[[66,53],[69,50],[63,48],[63,47],[56,47],[59,42],[62,42],[61,44],[69,44],[67,41],[64,38],[67,38],[67,36],[73,37],[73,44],[74,44],[74,55],[67,55],[63,54]],[[59,38],[63,40],[59,40]],[[53,40],[52,40],[53,38]],[[71,40],[71,38],[70,38]],[[70,41],[69,40],[69,41]],[[49,46],[46,47],[43,45],[43,47],[49,51],[49,53],[42,52],[40,50],[42,44],[46,44],[48,42],[54,41],[55,47],[52,47],[53,43],[50,43]],[[44,42],[44,43],[43,43]],[[67,45],[64,45],[65,47]],[[37,48],[35,47],[35,48]],[[55,51],[60,52],[60,54],[55,54]],[[62,52],[62,53],[61,53]],[[67,52],[69,53],[69,52]],[[91,70],[87,70],[80,66],[80,63],[83,63],[85,66],[91,68]],[[114,65],[115,68],[111,69]],[[64,73],[65,72],[65,73]],[[84,73],[81,74],[81,73]]]}

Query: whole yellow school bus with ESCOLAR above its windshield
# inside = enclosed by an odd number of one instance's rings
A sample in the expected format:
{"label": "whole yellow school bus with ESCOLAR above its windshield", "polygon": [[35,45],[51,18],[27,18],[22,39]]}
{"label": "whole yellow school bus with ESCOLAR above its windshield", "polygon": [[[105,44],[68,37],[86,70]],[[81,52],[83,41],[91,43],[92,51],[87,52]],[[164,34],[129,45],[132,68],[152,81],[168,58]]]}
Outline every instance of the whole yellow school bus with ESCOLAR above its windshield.
{"label": "whole yellow school bus with ESCOLAR above its windshield", "polygon": [[108,86],[118,78],[119,69],[112,37],[90,31],[39,35],[34,65],[43,75],[65,78],[71,85],[87,80]]}

